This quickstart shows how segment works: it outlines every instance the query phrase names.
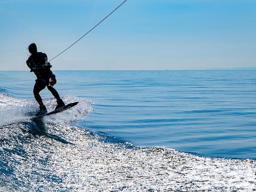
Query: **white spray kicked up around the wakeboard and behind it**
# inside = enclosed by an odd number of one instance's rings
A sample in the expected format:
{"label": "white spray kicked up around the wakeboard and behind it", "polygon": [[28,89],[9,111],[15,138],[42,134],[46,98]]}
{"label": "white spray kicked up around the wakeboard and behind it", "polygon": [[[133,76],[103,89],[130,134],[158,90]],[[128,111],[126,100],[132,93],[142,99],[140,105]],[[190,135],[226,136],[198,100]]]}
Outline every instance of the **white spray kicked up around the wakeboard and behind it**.
{"label": "white spray kicked up around the wakeboard and behind it", "polygon": [[[31,119],[39,109],[35,100],[17,99],[5,92],[1,92],[1,90],[0,97],[0,126]],[[84,114],[93,111],[93,108],[90,107],[92,102],[87,99],[64,96],[62,97],[62,100],[66,104],[76,101],[79,103],[75,108],[63,111],[61,114],[46,116],[44,120],[49,122],[57,121],[67,123],[69,121],[81,119]],[[43,102],[48,112],[53,111],[56,107],[56,100],[54,98],[44,99]]]}

